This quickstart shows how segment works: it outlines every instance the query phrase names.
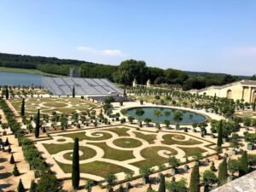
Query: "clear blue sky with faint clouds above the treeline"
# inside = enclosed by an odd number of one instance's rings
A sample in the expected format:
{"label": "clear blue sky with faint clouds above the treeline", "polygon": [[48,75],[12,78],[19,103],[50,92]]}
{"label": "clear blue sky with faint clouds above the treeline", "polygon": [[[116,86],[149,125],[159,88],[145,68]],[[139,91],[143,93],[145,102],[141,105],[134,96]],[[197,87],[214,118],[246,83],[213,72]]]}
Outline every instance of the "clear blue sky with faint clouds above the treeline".
{"label": "clear blue sky with faint clouds above the treeline", "polygon": [[0,52],[256,73],[256,1],[0,0]]}

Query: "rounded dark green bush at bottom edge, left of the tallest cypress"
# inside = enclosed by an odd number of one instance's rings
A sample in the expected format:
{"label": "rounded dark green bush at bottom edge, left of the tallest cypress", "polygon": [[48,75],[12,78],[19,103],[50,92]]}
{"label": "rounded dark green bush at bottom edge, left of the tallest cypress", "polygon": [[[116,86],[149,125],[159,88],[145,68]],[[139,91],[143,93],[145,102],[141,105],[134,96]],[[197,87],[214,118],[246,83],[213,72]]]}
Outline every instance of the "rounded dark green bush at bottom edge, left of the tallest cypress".
{"label": "rounded dark green bush at bottom edge, left of the tallest cypress", "polygon": [[38,192],[57,192],[60,189],[60,183],[55,175],[44,173],[38,181]]}

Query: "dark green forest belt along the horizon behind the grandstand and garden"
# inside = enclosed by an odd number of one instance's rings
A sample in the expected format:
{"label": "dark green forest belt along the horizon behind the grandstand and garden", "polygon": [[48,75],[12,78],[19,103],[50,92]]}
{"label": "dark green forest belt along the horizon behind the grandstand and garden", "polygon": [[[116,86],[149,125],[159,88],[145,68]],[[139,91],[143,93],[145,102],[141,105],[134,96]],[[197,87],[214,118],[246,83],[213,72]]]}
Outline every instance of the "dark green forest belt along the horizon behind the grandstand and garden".
{"label": "dark green forest belt along the horizon behind the grandstand and garden", "polygon": [[58,59],[55,57],[13,55],[0,53],[0,67],[38,69],[44,73],[69,75],[71,67],[78,67],[81,77],[106,78],[115,83],[131,85],[133,79],[145,84],[180,84],[183,90],[202,89],[210,85],[222,85],[240,79],[256,79],[224,73],[185,72],[168,68],[147,67],[144,61],[122,61],[119,66],[103,65],[88,61]]}

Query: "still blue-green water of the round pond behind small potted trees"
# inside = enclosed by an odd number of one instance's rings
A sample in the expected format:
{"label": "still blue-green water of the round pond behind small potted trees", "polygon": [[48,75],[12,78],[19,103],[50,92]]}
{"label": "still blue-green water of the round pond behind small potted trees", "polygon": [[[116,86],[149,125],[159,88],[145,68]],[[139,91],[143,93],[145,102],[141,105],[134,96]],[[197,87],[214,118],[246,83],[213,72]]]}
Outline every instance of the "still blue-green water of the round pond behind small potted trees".
{"label": "still blue-green water of the round pond behind small potted trees", "polygon": [[[128,109],[127,114],[138,119],[138,116],[136,115],[136,109],[137,108]],[[206,120],[206,117],[204,117],[203,115],[198,114],[198,113],[183,111],[183,110],[179,110],[179,109],[172,109],[172,108],[154,108],[154,107],[143,108],[143,111],[145,113],[143,114],[141,119],[149,118],[153,122],[157,122],[157,117],[154,116],[154,110],[156,110],[156,109],[160,110],[162,113],[162,116],[160,116],[160,118],[159,118],[159,122],[162,124],[165,124],[166,119],[170,120],[170,122],[172,124],[176,124],[177,122],[172,119],[175,111],[183,112],[183,120],[181,121],[181,123],[183,123],[183,124],[200,123],[200,122],[203,122]],[[165,115],[166,111],[171,113],[168,117],[166,117],[166,115]]]}

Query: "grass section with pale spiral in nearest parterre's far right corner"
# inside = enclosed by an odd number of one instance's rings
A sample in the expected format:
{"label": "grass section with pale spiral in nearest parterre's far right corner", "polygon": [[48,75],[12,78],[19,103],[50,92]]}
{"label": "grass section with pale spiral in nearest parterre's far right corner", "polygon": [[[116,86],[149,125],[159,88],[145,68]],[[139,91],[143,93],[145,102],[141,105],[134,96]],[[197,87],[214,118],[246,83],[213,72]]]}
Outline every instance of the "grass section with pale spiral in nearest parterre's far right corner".
{"label": "grass section with pale spiral in nearest parterre's far right corner", "polygon": [[185,139],[185,137],[183,135],[166,134],[166,135],[163,136],[164,141],[162,143],[166,144],[166,145],[173,145],[173,144],[177,144],[177,145],[196,145],[196,144],[201,144],[201,142],[199,142],[195,139],[192,139],[192,138],[189,138],[188,141],[177,141],[177,140],[174,140],[173,137],[178,139],[178,140]]}

